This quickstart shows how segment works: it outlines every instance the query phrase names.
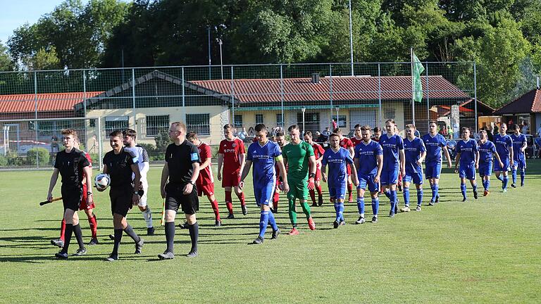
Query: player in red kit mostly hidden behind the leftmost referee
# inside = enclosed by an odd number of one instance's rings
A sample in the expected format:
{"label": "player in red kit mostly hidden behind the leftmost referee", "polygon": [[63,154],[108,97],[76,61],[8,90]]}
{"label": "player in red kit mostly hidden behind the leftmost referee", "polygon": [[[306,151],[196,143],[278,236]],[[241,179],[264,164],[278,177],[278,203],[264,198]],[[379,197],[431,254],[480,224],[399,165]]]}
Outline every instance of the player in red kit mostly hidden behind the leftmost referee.
{"label": "player in red kit mostly hidden behind the leftmost referee", "polygon": [[[79,138],[75,139],[74,147],[79,149]],[[90,165],[88,166],[92,170],[92,159],[90,158],[89,153],[85,153],[85,157],[87,158]],[[94,215],[94,208],[96,208],[96,205],[94,205],[94,201],[92,201],[92,204],[87,205],[87,177],[84,175],[82,177],[82,198],[81,203],[79,205],[79,210],[85,210],[85,213],[88,217],[88,224],[90,225],[90,231],[92,232],[92,239],[88,243],[88,245],[96,245],[98,243],[98,222],[96,220],[96,215]],[[77,213],[73,213],[74,222],[79,222],[79,216]],[[76,220],[75,220],[76,219]],[[60,226],[60,239],[54,239],[51,240],[51,244],[54,246],[58,246],[62,248],[64,246],[64,239],[66,234],[66,220],[62,218],[62,223]]]}

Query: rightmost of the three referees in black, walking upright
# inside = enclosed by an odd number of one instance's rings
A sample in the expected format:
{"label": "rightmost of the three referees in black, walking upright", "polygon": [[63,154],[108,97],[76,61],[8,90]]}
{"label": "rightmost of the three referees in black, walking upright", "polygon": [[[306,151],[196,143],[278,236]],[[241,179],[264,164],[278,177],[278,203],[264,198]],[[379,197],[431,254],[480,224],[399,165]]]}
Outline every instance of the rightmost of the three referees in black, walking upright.
{"label": "rightmost of the three referees in black, walking upright", "polygon": [[185,213],[192,249],[187,257],[197,256],[199,225],[195,213],[199,210],[199,198],[195,182],[199,176],[199,151],[197,146],[186,140],[186,125],[173,122],[169,128],[173,141],[166,150],[166,164],[161,171],[161,197],[166,198],[166,241],[167,249],[158,255],[160,260],[175,258],[175,215],[179,207]]}

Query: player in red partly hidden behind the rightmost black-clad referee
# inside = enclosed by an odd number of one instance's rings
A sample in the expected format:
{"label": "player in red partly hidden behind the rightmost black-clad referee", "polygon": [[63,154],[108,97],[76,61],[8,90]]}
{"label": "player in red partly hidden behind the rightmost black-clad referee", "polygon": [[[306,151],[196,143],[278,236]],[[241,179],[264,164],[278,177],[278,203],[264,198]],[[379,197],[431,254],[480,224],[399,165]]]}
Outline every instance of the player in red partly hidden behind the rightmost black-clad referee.
{"label": "player in red partly hidden behind the rightmost black-clad referee", "polygon": [[211,202],[212,205],[212,210],[214,211],[214,226],[220,227],[222,225],[222,221],[220,220],[218,201],[216,201],[216,197],[214,197],[214,175],[211,167],[211,146],[200,141],[199,138],[197,138],[196,132],[188,132],[186,139],[197,146],[197,150],[199,150],[199,158],[201,158],[201,163],[199,165],[199,177],[197,177],[197,181],[195,182],[197,196],[203,196],[204,194],[207,198],[209,198],[209,202]]}

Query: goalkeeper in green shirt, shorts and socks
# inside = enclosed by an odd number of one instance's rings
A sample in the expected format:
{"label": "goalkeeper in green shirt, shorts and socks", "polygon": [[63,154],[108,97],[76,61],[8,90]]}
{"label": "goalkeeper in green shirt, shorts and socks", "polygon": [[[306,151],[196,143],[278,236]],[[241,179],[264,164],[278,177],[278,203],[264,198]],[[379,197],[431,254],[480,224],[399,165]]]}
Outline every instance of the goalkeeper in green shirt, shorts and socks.
{"label": "goalkeeper in green shirt, shorts and socks", "polygon": [[282,156],[287,169],[287,182],[290,191],[287,192],[287,201],[290,204],[290,220],[293,229],[289,235],[299,234],[297,230],[297,210],[295,201],[299,198],[302,210],[308,220],[308,227],[316,229],[316,224],[310,215],[308,205],[308,191],[313,189],[314,177],[316,177],[316,157],[310,144],[301,141],[301,132],[298,125],[292,125],[287,129],[290,132],[291,142],[282,148]]}

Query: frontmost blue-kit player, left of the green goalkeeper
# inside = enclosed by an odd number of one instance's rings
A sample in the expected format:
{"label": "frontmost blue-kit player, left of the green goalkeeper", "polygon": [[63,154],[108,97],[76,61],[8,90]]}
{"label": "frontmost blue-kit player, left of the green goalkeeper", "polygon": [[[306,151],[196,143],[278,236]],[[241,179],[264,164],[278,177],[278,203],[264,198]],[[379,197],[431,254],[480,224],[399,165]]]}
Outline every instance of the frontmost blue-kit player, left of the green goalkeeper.
{"label": "frontmost blue-kit player, left of the green goalkeeper", "polygon": [[280,177],[282,177],[283,189],[289,190],[287,184],[287,176],[283,163],[282,152],[280,147],[273,141],[267,138],[267,127],[263,124],[258,124],[254,128],[256,131],[257,141],[251,143],[248,148],[247,161],[242,170],[240,177],[240,189],[244,187],[244,178],[250,172],[251,164],[254,164],[254,196],[256,204],[261,208],[259,217],[259,236],[254,240],[254,244],[263,243],[265,232],[268,224],[273,227],[273,236],[270,239],[276,239],[280,234],[280,229],[276,224],[272,210],[269,204],[273,202],[274,189],[276,186],[275,163],[278,163],[280,168]]}

